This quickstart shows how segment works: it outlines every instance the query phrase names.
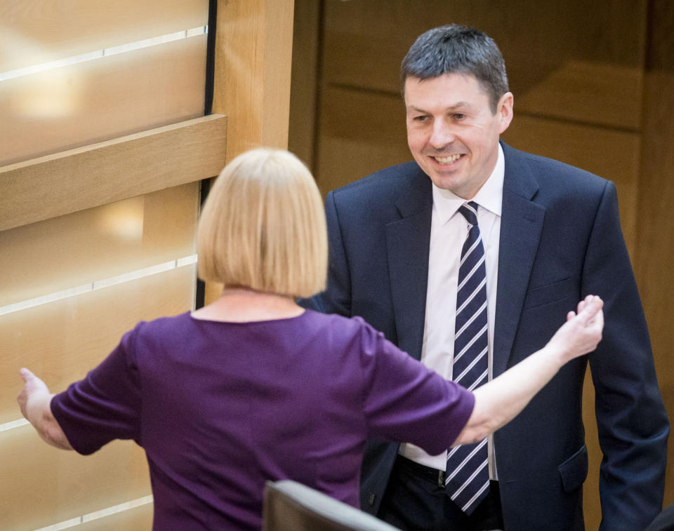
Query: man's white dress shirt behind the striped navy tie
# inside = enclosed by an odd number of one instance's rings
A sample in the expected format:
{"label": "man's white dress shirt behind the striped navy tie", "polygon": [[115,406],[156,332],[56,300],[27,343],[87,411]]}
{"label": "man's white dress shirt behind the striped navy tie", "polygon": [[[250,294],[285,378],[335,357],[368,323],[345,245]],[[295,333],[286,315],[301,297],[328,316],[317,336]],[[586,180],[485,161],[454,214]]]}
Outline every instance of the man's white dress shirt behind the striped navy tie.
{"label": "man's white dress shirt behind the striped navy tie", "polygon": [[[484,261],[487,267],[487,325],[489,333],[489,379],[491,379],[496,316],[496,283],[498,281],[498,236],[501,234],[501,204],[505,160],[498,145],[498,159],[489,179],[470,201],[477,203],[477,224],[480,226]],[[451,379],[454,357],[454,324],[456,321],[456,286],[461,248],[470,225],[458,208],[465,203],[449,190],[432,185],[433,212],[428,255],[428,288],[421,347],[421,363],[441,376]],[[489,476],[496,479],[493,440],[489,438]],[[447,452],[428,455],[416,445],[405,443],[399,453],[407,459],[444,470]]]}

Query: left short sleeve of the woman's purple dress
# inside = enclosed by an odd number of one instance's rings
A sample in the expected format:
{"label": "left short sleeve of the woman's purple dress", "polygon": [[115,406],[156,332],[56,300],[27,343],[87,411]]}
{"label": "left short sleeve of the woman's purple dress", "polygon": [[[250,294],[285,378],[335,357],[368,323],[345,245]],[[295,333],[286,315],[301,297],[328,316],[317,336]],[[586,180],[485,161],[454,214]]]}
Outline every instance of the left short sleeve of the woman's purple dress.
{"label": "left short sleeve of the woman's purple dress", "polygon": [[89,455],[113,439],[140,444],[140,386],[127,332],[105,360],[84,379],[51,400],[51,412],[72,448]]}

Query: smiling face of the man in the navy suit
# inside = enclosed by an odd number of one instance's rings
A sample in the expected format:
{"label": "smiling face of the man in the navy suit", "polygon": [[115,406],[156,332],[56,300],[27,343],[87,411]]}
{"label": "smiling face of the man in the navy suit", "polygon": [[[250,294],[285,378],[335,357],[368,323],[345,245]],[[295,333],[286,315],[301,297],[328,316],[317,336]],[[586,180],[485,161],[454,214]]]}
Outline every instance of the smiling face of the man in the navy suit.
{"label": "smiling face of the man in the navy suit", "polygon": [[498,158],[498,137],[513,118],[505,93],[492,114],[489,96],[472,74],[405,81],[407,144],[437,187],[473,199]]}

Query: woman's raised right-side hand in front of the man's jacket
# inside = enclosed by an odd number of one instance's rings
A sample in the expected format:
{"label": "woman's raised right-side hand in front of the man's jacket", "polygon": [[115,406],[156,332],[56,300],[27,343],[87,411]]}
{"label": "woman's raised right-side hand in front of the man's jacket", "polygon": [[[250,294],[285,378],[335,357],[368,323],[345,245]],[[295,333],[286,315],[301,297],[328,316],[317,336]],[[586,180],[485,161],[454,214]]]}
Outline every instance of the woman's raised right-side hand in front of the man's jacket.
{"label": "woman's raised right-side hand in front of the man's jacket", "polygon": [[578,313],[569,311],[567,322],[555,332],[549,347],[562,354],[562,363],[588,354],[597,348],[604,330],[604,301],[597,295],[588,295],[578,303]]}

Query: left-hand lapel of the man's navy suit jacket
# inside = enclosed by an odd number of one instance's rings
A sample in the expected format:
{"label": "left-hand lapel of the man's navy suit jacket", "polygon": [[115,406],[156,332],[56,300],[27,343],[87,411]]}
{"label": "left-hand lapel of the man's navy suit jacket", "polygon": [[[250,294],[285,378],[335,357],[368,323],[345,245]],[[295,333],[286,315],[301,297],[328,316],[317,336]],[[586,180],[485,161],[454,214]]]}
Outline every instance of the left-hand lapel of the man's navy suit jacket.
{"label": "left-hand lapel of the man's navy suit jacket", "polygon": [[397,344],[421,359],[433,206],[430,179],[421,169],[410,175],[395,206],[401,219],[386,225],[386,248]]}

